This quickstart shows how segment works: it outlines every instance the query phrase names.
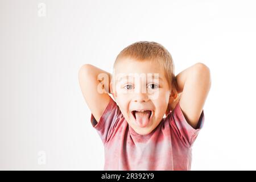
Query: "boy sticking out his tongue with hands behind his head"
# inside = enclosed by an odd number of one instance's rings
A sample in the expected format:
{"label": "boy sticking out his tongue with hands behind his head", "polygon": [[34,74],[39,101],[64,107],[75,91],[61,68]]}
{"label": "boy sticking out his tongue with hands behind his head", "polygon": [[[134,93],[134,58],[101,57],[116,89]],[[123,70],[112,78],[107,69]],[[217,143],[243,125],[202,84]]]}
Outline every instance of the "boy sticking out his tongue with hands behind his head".
{"label": "boy sticking out his tongue with hands behind his head", "polygon": [[191,170],[211,85],[206,65],[175,76],[166,48],[136,42],[119,53],[113,75],[85,64],[79,82],[104,143],[105,170]]}

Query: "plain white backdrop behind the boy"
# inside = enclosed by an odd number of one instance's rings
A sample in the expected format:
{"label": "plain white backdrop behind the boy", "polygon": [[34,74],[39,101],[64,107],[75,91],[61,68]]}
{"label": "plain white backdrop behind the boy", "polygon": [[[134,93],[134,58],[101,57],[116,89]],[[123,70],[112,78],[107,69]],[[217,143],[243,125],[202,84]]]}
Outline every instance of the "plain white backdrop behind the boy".
{"label": "plain white backdrop behind the boy", "polygon": [[[192,170],[255,170],[255,1],[0,1],[0,169],[101,170],[78,71],[147,40],[211,71]],[[89,86],[89,85],[88,85]]]}

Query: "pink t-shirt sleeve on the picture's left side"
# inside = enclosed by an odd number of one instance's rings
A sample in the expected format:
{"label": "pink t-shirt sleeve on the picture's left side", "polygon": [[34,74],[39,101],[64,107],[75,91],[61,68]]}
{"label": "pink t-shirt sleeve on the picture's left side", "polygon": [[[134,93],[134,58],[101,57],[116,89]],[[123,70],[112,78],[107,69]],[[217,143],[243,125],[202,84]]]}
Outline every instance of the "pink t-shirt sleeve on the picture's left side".
{"label": "pink t-shirt sleeve on the picture's left side", "polygon": [[112,97],[110,97],[109,104],[106,106],[106,109],[101,115],[100,121],[98,123],[93,114],[91,114],[90,122],[92,123],[94,129],[97,130],[104,144],[108,142],[112,136],[119,116],[121,116],[121,111],[119,110],[118,105],[115,103]]}

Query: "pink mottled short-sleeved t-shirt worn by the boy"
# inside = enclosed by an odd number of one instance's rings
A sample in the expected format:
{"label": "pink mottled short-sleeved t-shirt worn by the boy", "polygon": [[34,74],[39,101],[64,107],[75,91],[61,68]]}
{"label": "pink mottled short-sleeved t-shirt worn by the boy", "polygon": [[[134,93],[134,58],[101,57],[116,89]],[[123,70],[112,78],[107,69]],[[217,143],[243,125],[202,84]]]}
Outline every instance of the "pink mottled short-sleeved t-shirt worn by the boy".
{"label": "pink mottled short-sleeved t-shirt worn by the boy", "polygon": [[179,102],[147,135],[139,135],[110,101],[100,121],[90,119],[104,143],[104,170],[191,170],[192,145],[204,123],[204,110],[197,129],[184,118]]}

